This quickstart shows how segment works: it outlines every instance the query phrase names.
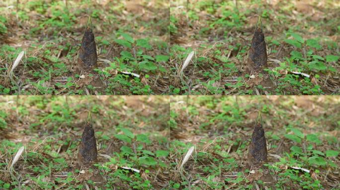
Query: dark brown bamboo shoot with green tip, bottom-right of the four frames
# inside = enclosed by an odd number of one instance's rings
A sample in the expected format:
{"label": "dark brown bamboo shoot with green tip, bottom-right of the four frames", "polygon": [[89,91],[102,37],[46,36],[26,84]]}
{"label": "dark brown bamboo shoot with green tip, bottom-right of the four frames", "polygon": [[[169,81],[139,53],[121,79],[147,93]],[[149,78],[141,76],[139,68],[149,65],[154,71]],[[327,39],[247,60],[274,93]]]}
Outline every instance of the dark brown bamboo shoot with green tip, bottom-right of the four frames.
{"label": "dark brown bamboo shoot with green tip, bottom-right of the four frames", "polygon": [[262,116],[261,112],[259,112],[252,135],[252,142],[248,149],[249,168],[259,168],[262,167],[264,162],[267,162],[267,146],[262,125]]}

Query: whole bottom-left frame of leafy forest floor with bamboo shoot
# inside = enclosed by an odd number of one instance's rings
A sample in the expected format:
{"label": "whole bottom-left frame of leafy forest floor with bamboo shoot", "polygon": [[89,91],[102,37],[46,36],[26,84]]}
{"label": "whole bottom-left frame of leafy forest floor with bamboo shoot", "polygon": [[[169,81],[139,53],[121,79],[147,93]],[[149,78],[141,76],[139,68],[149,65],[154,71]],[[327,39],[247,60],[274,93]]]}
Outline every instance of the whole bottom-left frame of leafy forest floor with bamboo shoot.
{"label": "whole bottom-left frame of leafy forest floor with bamboo shoot", "polygon": [[1,190],[169,184],[166,97],[1,96],[0,106]]}

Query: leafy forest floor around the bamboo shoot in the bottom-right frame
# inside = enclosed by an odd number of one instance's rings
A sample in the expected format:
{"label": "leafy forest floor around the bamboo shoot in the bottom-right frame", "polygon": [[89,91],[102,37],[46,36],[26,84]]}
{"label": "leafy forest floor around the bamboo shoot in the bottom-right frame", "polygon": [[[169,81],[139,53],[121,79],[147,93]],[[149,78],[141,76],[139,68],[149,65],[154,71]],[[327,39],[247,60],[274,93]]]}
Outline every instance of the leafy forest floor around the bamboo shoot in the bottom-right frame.
{"label": "leafy forest floor around the bamboo shoot in the bottom-right frame", "polygon": [[[170,99],[169,158],[173,189],[340,188],[339,96],[173,96]],[[256,125],[258,112],[262,115],[267,150],[260,144],[257,148],[252,144],[263,143],[261,128]],[[262,152],[258,159],[249,156],[255,149]],[[254,165],[249,167],[254,160],[267,163],[258,169]]]}

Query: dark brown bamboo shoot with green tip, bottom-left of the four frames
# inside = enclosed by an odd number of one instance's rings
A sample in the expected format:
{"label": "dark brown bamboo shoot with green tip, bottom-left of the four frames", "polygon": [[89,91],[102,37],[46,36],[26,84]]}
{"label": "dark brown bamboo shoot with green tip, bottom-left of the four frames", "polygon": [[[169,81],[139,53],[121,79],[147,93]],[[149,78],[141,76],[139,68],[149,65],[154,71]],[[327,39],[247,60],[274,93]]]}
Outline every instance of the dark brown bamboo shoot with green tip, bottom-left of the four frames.
{"label": "dark brown bamboo shoot with green tip, bottom-left of the four frames", "polygon": [[91,167],[92,163],[97,162],[97,146],[90,113],[84,127],[82,142],[79,145],[77,162],[77,168]]}

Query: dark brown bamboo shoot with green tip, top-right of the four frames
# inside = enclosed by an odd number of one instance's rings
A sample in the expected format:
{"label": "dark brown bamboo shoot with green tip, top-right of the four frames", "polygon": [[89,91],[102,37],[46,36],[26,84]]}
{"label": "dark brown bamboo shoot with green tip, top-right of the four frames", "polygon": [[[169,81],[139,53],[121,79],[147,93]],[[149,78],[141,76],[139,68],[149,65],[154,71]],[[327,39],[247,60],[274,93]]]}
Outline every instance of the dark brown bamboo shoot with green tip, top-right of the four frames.
{"label": "dark brown bamboo shoot with green tip, top-right of the four frames", "polygon": [[260,72],[267,66],[267,51],[262,30],[262,20],[261,16],[259,16],[252,39],[252,45],[248,52],[247,72]]}

